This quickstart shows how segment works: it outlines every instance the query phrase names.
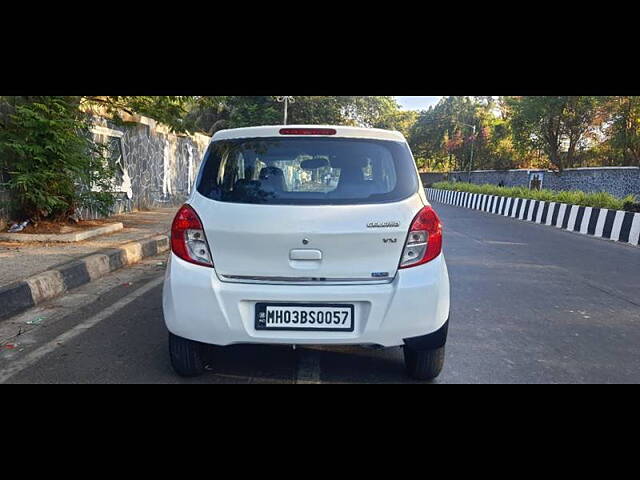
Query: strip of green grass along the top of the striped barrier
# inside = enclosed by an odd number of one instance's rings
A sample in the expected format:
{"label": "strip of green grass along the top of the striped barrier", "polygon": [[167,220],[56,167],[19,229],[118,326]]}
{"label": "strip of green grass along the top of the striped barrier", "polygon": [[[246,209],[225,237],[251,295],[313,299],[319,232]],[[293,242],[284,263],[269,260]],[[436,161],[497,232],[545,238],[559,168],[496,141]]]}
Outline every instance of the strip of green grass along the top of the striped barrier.
{"label": "strip of green grass along the top of the striped barrier", "polygon": [[465,182],[438,182],[434,183],[432,188],[453,190],[456,192],[481,193],[484,195],[500,195],[503,197],[531,198],[544,202],[568,203],[585,207],[608,208],[610,210],[623,210],[625,202],[635,202],[633,195],[620,199],[604,192],[585,193],[579,190],[556,192],[553,190],[529,190],[525,187],[476,185],[475,183]]}

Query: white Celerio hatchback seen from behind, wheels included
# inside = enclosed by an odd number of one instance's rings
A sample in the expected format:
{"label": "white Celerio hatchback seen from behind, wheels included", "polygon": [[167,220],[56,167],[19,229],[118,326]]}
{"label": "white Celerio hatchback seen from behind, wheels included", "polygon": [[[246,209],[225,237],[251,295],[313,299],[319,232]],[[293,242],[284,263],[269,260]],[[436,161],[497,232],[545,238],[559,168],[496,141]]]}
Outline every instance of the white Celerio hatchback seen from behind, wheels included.
{"label": "white Celerio hatchback seen from behind, wheels included", "polygon": [[444,363],[442,226],[402,134],[268,126],[214,135],[171,231],[163,291],[184,376],[206,344],[404,346]]}

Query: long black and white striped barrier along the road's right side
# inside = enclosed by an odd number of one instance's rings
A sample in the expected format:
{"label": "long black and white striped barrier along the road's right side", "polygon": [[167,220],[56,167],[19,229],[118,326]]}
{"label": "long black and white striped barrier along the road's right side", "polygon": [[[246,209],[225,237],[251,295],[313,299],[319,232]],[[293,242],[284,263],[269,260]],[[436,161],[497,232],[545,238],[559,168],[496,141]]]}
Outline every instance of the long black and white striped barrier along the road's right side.
{"label": "long black and white striped barrier along the road's right side", "polygon": [[427,188],[426,191],[429,201],[481,210],[615,242],[638,245],[640,240],[640,213],[434,188]]}

